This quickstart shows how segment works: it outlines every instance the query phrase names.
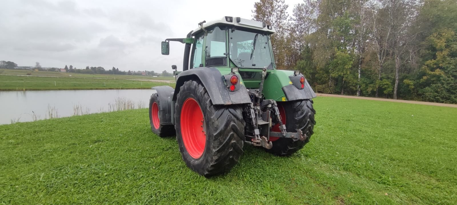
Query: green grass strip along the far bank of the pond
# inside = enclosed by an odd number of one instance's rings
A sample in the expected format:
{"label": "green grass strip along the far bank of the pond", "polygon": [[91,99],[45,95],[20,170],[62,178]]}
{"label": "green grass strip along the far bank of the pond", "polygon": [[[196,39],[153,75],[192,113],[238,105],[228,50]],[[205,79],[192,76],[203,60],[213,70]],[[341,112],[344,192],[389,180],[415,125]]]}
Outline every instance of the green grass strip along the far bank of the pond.
{"label": "green grass strip along the far bank of the pond", "polygon": [[[8,81],[8,82],[2,82]],[[54,83],[55,82],[55,83]],[[0,90],[88,90],[88,89],[150,89],[169,85],[166,82],[114,80],[75,77],[26,77],[0,75]],[[175,83],[170,83],[171,87]]]}

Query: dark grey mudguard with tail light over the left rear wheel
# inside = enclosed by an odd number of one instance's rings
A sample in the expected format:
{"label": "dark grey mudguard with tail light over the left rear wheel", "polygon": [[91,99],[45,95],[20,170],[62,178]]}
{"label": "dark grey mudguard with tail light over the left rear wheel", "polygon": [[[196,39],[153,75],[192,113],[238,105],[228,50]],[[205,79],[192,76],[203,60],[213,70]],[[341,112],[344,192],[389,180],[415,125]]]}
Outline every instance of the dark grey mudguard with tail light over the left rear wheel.
{"label": "dark grey mudguard with tail light over the left rear wheel", "polygon": [[[214,67],[198,67],[179,73],[176,80],[175,93],[173,94],[173,101],[180,91],[184,82],[191,79],[199,79],[207,90],[213,105],[233,105],[233,104],[247,104],[251,103],[249,94],[246,87],[242,84],[237,84],[234,92],[228,91],[228,87],[223,80],[223,75],[218,69]],[[238,75],[239,79],[241,77]]]}

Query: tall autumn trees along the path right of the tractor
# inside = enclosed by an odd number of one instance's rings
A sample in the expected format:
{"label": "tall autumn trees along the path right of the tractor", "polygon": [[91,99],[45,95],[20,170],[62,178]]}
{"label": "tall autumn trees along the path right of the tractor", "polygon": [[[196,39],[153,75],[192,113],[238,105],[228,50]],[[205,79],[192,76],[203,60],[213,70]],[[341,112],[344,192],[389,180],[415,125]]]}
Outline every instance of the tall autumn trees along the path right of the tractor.
{"label": "tall autumn trees along the path right of the tractor", "polygon": [[457,103],[455,0],[255,2],[278,69],[317,92]]}

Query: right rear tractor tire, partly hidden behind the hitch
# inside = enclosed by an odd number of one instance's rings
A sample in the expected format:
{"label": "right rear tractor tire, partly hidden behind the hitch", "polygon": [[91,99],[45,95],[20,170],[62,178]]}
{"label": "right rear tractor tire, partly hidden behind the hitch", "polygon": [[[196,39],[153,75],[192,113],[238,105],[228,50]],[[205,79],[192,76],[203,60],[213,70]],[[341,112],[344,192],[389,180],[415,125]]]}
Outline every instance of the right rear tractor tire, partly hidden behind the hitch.
{"label": "right rear tractor tire, partly hidden behind the hitch", "polygon": [[[313,128],[316,124],[314,114],[316,114],[316,111],[313,108],[313,100],[311,99],[278,103],[278,107],[281,118],[285,119],[283,121],[286,124],[286,131],[297,132],[300,129],[307,137],[304,141],[296,138],[275,138],[271,140],[273,147],[266,149],[266,151],[278,156],[287,156],[302,149],[309,142],[309,138],[314,133]],[[283,112],[281,112],[282,110]]]}

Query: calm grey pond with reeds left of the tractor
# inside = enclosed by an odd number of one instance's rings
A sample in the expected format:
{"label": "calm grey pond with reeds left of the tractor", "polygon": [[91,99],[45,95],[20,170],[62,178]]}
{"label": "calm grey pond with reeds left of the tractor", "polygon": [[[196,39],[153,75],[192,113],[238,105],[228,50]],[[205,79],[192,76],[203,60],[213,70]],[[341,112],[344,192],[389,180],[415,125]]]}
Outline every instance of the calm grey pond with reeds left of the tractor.
{"label": "calm grey pond with reeds left of the tractor", "polygon": [[0,91],[0,124],[148,108],[151,89]]}

